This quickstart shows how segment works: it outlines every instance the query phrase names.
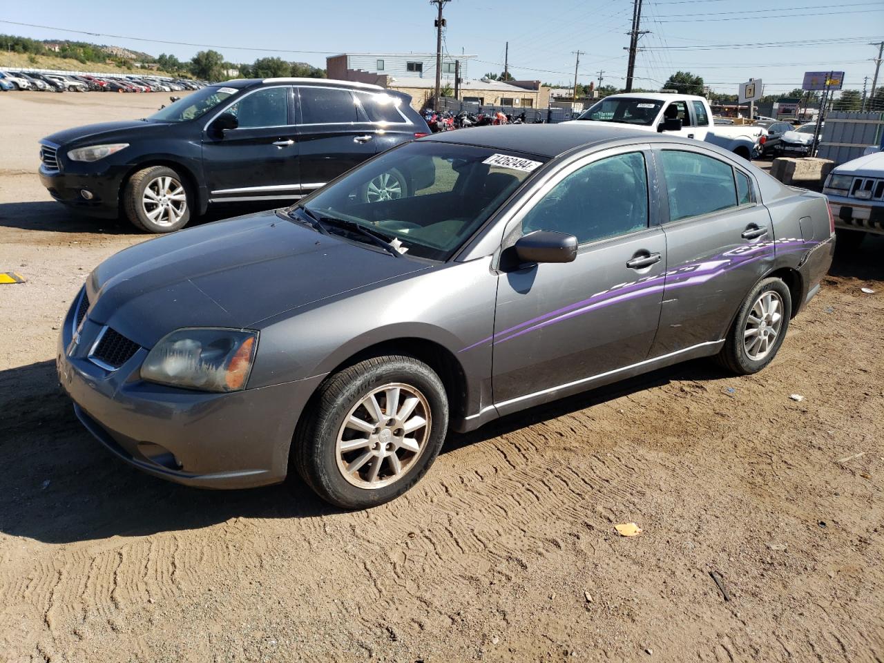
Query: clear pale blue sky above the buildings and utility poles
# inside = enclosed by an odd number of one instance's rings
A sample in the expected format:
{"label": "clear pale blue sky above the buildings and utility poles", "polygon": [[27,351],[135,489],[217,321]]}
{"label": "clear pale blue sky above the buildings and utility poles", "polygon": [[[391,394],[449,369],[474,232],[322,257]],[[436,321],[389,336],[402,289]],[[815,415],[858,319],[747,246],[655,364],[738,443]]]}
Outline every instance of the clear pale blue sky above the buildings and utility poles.
{"label": "clear pale blue sky above the buildings and utility poles", "polygon": [[[800,87],[804,71],[844,71],[845,88],[862,89],[874,72],[884,39],[884,3],[846,0],[644,0],[636,87],[659,88],[669,73],[686,70],[711,87],[735,94],[737,84],[760,78],[766,94]],[[445,8],[449,53],[475,54],[470,76],[503,69],[520,79],[570,85],[582,50],[579,80],[623,85],[631,0],[451,0]],[[435,6],[427,0],[217,0],[149,4],[118,0],[42,0],[40,11],[8,2],[0,19],[168,42],[212,44],[232,62],[279,56],[325,65],[325,53],[431,52],[436,48]],[[0,22],[0,33],[39,39],[79,39],[189,59],[205,47],[88,36]],[[821,41],[830,40],[830,41]],[[780,46],[783,44],[783,46]],[[245,47],[234,49],[233,47]],[[259,51],[254,49],[266,49]],[[275,51],[278,50],[278,51]],[[285,52],[285,51],[317,52]],[[2,55],[0,55],[2,61]],[[884,76],[884,71],[882,71]]]}

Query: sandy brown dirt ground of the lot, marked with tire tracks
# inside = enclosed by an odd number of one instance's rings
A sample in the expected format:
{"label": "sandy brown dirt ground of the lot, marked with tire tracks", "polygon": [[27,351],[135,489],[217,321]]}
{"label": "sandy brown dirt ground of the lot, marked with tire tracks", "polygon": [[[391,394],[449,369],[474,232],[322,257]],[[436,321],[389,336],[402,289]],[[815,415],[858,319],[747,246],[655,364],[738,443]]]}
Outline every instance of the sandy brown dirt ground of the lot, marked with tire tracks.
{"label": "sandy brown dirt ground of the lot, marked with tire tracks", "polygon": [[0,95],[0,271],[27,278],[0,286],[0,661],[884,659],[884,240],[756,376],[690,362],[453,435],[370,511],[201,492],[58,392],[74,293],[147,238],[34,174],[42,135],[164,97]]}

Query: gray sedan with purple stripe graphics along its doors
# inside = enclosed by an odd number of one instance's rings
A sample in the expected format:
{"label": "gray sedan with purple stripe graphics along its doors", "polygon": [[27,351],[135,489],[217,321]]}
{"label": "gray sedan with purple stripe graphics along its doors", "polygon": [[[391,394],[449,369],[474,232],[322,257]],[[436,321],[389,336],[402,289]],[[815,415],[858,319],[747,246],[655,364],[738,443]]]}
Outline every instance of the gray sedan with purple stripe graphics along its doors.
{"label": "gray sedan with purple stripe graphics along its doors", "polygon": [[696,357],[761,370],[833,238],[824,196],[705,143],[448,132],[293,207],[114,255],[73,301],[58,375],[88,430],[154,476],[301,476],[371,507],[447,431]]}

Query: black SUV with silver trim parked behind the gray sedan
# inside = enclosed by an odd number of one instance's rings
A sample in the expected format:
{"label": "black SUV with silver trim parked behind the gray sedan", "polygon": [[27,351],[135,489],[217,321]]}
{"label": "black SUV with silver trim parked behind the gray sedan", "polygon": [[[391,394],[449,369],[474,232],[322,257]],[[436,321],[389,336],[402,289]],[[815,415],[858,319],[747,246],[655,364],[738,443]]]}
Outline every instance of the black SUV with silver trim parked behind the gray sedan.
{"label": "black SUV with silver trim parked behind the gray sedan", "polygon": [[[58,202],[171,232],[210,203],[293,201],[370,156],[430,133],[411,97],[325,79],[230,80],[149,118],[80,126],[41,142],[40,179]],[[366,200],[407,194],[397,173]]]}

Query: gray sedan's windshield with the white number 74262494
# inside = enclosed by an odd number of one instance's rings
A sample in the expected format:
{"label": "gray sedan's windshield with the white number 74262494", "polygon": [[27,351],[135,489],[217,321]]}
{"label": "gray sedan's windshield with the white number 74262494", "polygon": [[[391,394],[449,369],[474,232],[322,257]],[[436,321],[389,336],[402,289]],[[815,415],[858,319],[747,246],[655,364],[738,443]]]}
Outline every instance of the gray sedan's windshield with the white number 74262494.
{"label": "gray sedan's windshield with the white number 74262494", "polygon": [[510,150],[411,142],[286,211],[332,232],[345,227],[336,228],[335,220],[356,223],[400,253],[445,261],[545,160]]}

